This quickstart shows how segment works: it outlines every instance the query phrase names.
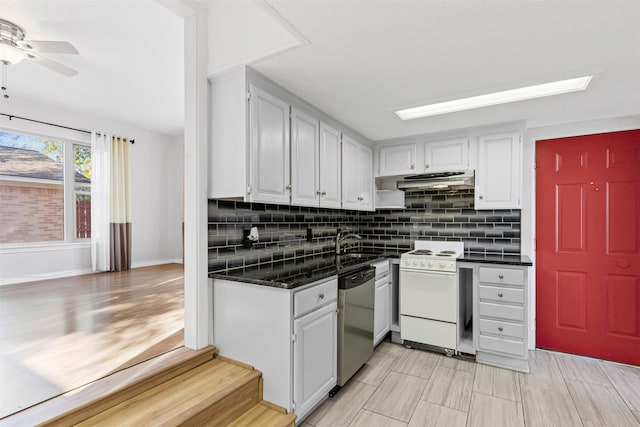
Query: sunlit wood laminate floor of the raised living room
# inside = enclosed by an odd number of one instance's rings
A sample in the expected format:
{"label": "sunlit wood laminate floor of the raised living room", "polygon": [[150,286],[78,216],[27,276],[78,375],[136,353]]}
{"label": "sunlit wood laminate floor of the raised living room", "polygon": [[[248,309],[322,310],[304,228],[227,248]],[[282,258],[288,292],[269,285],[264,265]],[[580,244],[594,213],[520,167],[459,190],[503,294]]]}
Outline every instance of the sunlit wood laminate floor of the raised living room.
{"label": "sunlit wood laminate floor of the raised living room", "polygon": [[180,264],[0,287],[0,418],[184,345]]}

